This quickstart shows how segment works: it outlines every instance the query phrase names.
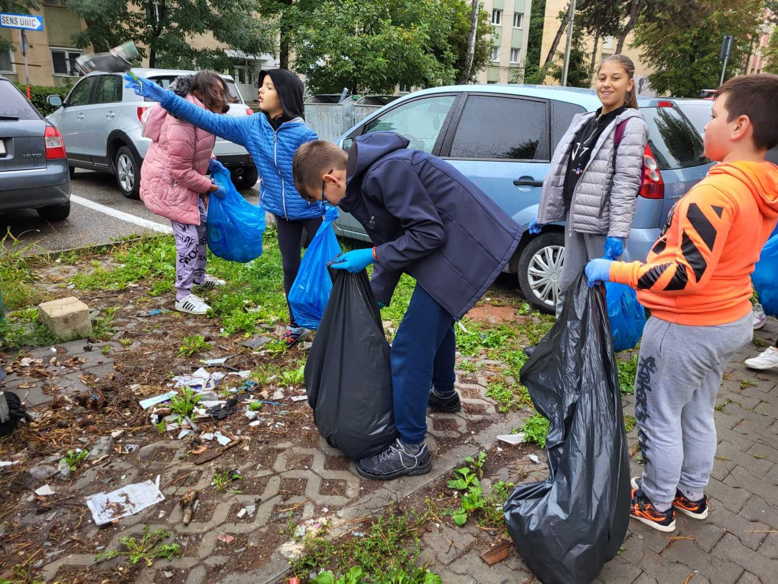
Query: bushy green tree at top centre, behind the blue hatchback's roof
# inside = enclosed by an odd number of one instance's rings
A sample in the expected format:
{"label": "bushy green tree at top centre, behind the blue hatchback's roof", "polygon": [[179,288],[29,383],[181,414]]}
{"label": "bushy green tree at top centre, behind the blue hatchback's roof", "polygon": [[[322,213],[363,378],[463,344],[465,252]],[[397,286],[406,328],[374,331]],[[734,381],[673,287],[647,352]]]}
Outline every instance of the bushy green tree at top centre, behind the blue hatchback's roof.
{"label": "bushy green tree at top centre, behind the blue hatchback's roof", "polygon": [[292,35],[294,69],[313,93],[393,93],[454,82],[449,2],[325,0]]}

